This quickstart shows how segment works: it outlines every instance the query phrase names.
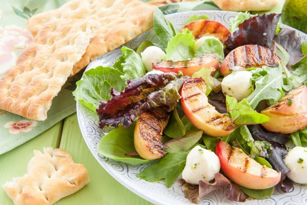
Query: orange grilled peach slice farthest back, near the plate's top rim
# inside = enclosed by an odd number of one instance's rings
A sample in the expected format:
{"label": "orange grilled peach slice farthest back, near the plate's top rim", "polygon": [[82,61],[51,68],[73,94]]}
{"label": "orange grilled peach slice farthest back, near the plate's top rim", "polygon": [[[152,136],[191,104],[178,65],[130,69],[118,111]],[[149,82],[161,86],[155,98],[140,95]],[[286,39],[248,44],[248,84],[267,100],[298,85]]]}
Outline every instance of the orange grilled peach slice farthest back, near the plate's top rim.
{"label": "orange grilled peach slice farthest back, near the plate's top rim", "polygon": [[195,22],[184,26],[182,29],[189,29],[196,39],[203,36],[214,36],[222,43],[231,35],[228,28],[214,20],[195,20]]}

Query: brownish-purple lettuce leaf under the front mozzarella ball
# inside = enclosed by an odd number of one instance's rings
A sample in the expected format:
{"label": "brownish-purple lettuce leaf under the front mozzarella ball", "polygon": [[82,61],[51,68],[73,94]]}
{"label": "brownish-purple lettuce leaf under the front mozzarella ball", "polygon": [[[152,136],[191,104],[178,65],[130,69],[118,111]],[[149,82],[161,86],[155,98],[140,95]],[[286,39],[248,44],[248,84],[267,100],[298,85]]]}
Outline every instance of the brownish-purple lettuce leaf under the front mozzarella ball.
{"label": "brownish-purple lettuce leaf under the front mozzarella ball", "polygon": [[184,179],[179,179],[180,187],[183,187],[184,197],[189,199],[191,202],[198,204],[200,199],[212,191],[221,189],[230,185],[229,191],[226,193],[226,198],[230,201],[244,202],[247,196],[242,190],[233,183],[231,183],[223,174],[216,173],[214,175],[214,182],[199,181],[199,185],[191,185]]}

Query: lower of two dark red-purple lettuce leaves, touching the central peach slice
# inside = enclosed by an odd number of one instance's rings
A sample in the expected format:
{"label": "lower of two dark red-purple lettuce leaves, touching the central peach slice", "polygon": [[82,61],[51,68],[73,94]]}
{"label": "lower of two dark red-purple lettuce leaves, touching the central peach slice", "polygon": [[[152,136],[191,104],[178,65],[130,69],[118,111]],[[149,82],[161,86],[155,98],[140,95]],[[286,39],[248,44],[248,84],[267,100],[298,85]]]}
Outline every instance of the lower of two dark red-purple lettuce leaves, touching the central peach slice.
{"label": "lower of two dark red-purple lettuce leaves, touching the central peach slice", "polygon": [[118,125],[122,124],[128,128],[140,114],[160,106],[167,112],[172,111],[181,98],[179,91],[182,85],[189,78],[184,76],[173,80],[162,90],[150,93],[145,99],[138,103],[129,104],[124,110],[118,110],[114,115],[105,117],[104,113],[99,114],[99,127],[101,129],[105,126],[118,128]]}

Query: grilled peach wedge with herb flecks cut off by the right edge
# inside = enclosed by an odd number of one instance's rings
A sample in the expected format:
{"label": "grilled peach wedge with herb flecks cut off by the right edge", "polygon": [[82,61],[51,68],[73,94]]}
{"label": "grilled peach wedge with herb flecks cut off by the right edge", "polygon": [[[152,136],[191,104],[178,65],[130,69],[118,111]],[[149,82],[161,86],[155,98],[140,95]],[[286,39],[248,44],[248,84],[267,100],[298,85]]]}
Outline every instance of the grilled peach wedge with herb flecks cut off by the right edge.
{"label": "grilled peach wedge with herb flecks cut off by the right edge", "polygon": [[262,126],[271,132],[288,134],[304,129],[307,126],[307,87],[290,90],[278,103],[261,113],[270,118]]}

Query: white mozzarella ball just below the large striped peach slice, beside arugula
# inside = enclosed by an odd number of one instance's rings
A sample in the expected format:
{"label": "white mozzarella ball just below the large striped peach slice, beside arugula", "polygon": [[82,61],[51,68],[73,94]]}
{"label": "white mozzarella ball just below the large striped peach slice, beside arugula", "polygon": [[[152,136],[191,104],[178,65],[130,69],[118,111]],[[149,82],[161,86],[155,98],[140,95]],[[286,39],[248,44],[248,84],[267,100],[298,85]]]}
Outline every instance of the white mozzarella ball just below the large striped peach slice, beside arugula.
{"label": "white mozzarella ball just below the large striped peach slice, beside arugula", "polygon": [[251,77],[250,71],[236,71],[227,75],[221,83],[223,93],[238,101],[243,100],[254,91]]}

